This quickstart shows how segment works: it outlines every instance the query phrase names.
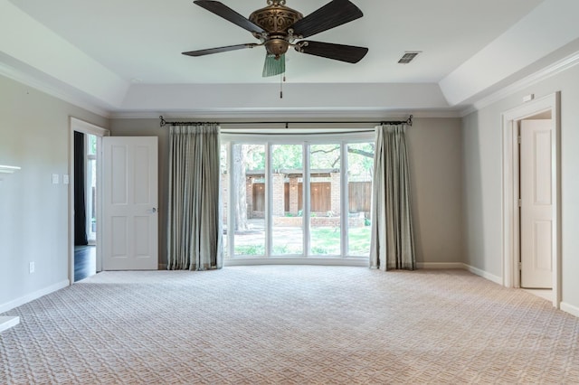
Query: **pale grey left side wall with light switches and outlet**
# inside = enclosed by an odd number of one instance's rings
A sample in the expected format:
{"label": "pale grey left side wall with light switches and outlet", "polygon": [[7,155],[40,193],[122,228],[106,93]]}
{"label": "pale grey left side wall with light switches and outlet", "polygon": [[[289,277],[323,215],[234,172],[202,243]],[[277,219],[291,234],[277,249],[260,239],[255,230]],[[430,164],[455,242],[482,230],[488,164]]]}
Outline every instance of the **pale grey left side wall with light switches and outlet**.
{"label": "pale grey left side wall with light switches and outlet", "polygon": [[[69,117],[108,121],[0,76],[0,308],[68,282]],[[60,183],[52,184],[52,174]],[[35,273],[29,274],[34,262]]]}

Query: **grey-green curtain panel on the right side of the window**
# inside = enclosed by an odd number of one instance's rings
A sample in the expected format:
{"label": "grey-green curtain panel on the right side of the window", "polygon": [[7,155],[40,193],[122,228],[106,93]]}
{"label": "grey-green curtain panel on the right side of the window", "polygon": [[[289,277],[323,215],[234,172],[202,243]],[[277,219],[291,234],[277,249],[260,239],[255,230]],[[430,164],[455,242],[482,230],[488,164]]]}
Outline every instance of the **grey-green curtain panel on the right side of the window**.
{"label": "grey-green curtain panel on the right side of the window", "polygon": [[376,127],[370,267],[416,268],[406,125]]}

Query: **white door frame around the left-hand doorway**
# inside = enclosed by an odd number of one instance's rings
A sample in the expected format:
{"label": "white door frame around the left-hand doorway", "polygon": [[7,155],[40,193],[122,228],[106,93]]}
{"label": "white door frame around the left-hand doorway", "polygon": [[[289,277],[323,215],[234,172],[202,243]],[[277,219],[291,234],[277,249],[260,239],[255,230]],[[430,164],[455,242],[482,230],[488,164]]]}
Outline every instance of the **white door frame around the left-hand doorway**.
{"label": "white door frame around the left-hand doorway", "polygon": [[102,270],[102,136],[110,136],[106,128],[93,125],[77,117],[69,117],[69,282],[74,283],[74,132],[97,136],[97,271]]}

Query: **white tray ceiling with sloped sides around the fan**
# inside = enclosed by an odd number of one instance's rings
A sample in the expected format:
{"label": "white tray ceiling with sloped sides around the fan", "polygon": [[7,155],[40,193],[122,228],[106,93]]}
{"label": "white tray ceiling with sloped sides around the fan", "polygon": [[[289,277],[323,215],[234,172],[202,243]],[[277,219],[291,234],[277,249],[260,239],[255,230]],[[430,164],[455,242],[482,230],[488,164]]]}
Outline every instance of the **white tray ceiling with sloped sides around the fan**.
{"label": "white tray ceiling with sloped sides around the fan", "polygon": [[[287,5],[307,15],[327,1]],[[181,54],[257,42],[190,0],[0,0],[0,64],[109,115],[413,112],[464,108],[544,58],[573,53],[579,38],[576,0],[353,1],[363,18],[309,40],[365,46],[366,57],[349,64],[290,51],[284,99],[279,78],[261,78],[262,47]],[[246,16],[265,5],[222,2]],[[405,51],[422,53],[398,64]]]}

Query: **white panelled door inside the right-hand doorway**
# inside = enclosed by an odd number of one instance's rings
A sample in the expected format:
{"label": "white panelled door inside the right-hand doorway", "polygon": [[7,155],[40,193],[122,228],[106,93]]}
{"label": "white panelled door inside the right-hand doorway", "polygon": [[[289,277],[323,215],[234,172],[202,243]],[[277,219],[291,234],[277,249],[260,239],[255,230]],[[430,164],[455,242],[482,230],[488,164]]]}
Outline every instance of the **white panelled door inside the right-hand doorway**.
{"label": "white panelled door inside the right-hand doorway", "polygon": [[552,121],[522,120],[521,287],[553,286]]}

